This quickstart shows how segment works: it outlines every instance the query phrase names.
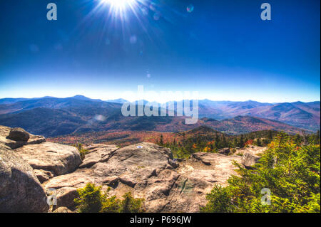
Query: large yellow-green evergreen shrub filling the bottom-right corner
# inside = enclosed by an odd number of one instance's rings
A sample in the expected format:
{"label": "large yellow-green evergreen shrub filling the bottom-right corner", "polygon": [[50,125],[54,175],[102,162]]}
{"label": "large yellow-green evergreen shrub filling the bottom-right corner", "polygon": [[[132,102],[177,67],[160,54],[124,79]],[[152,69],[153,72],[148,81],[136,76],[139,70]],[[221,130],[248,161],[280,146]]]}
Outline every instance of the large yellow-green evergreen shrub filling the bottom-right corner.
{"label": "large yellow-green evergreen shrub filling the bottom-right corner", "polygon": [[[320,212],[320,144],[310,139],[295,144],[281,132],[254,169],[235,162],[239,176],[228,186],[215,186],[203,212]],[[270,204],[263,204],[262,189],[270,189]]]}

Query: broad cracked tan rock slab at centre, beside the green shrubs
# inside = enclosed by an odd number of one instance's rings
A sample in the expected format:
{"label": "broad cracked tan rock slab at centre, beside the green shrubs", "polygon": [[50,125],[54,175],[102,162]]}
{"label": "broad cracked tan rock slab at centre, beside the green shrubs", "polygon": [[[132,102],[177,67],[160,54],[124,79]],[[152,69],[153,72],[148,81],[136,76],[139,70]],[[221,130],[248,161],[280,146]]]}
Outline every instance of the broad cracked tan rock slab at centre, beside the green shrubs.
{"label": "broad cracked tan rock slab at centre, beside the green shrubs", "polygon": [[[198,212],[206,204],[206,194],[214,184],[227,184],[237,174],[233,161],[242,162],[239,155],[198,152],[189,160],[175,162],[170,149],[151,143],[140,143],[118,149],[92,144],[86,159],[88,164],[71,174],[46,181],[46,190],[56,189],[61,206],[73,208],[76,189],[88,182],[103,186],[119,198],[131,191],[144,199],[148,212]],[[65,199],[63,199],[65,198]]]}

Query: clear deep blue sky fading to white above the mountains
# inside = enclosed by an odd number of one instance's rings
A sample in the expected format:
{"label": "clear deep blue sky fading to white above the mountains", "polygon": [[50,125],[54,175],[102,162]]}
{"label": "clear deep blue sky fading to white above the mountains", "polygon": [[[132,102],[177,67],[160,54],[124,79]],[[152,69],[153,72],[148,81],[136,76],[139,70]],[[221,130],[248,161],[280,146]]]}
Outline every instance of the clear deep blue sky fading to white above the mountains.
{"label": "clear deep blue sky fading to white above the mountains", "polygon": [[[49,2],[57,21],[46,19]],[[263,2],[271,21],[260,19]],[[144,85],[210,100],[320,100],[319,0],[130,4],[1,0],[0,97],[133,100],[123,92]]]}

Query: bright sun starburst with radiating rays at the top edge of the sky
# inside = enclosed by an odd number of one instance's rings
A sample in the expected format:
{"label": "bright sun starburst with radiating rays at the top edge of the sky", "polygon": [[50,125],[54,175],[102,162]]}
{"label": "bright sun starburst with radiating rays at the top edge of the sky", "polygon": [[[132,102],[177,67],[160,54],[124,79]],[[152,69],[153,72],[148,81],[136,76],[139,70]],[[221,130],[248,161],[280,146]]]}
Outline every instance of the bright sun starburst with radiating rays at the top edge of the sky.
{"label": "bright sun starburst with radiating rays at the top edge of the sky", "polygon": [[[158,39],[160,20],[174,24],[177,17],[184,16],[160,1],[156,3],[156,0],[91,1],[94,1],[93,9],[78,23],[75,31],[79,29],[82,34],[87,34],[95,23],[95,26],[99,26],[100,33],[93,46],[98,47],[101,43],[104,46],[115,46],[117,39],[123,45],[127,43],[131,48],[136,48],[140,56],[147,53],[143,47],[146,41],[163,42]],[[143,38],[141,32],[145,35]],[[151,78],[149,73],[147,78]]]}

